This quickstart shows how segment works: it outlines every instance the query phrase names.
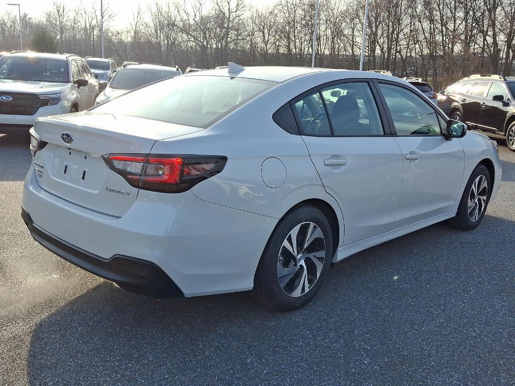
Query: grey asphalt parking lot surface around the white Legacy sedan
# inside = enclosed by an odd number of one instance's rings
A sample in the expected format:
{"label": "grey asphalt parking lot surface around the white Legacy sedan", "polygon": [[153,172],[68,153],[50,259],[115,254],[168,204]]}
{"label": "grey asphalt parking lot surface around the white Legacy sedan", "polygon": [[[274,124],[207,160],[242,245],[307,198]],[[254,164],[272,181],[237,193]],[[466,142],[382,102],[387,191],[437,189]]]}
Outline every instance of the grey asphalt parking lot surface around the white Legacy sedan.
{"label": "grey asphalt parking lot surface around the white Legacy sedan", "polygon": [[[471,232],[437,224],[336,264],[305,308],[153,300],[33,241],[27,130],[0,128],[0,385],[515,384],[515,153]],[[73,224],[63,224],[73,226]]]}

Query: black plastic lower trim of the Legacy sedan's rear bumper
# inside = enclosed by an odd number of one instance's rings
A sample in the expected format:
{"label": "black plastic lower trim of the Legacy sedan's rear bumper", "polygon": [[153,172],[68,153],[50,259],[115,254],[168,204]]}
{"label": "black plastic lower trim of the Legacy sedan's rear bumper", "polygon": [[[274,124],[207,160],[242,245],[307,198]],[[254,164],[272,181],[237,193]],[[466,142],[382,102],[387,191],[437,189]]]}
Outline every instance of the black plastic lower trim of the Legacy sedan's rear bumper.
{"label": "black plastic lower trim of the Legacy sedan's rear bumper", "polygon": [[143,295],[157,298],[184,296],[174,281],[150,261],[122,255],[105,260],[42,231],[23,208],[22,219],[32,237],[43,247],[88,272]]}

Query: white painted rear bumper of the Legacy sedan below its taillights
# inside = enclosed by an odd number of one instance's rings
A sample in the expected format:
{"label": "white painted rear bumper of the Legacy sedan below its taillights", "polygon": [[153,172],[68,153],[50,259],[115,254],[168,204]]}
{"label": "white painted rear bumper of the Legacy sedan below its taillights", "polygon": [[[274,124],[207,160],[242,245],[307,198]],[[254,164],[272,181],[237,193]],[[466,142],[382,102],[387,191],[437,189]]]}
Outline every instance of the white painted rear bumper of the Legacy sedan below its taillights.
{"label": "white painted rear bumper of the Legacy sedan below its taillights", "polygon": [[[22,208],[33,228],[100,261],[96,269],[107,269],[109,261],[126,261],[122,260],[126,256],[144,260],[159,267],[184,296],[251,289],[255,269],[278,221],[200,200],[191,191],[140,190],[122,217],[104,215],[41,188],[33,167],[24,183]],[[52,248],[48,249],[64,257]],[[90,259],[86,261],[90,264]]]}

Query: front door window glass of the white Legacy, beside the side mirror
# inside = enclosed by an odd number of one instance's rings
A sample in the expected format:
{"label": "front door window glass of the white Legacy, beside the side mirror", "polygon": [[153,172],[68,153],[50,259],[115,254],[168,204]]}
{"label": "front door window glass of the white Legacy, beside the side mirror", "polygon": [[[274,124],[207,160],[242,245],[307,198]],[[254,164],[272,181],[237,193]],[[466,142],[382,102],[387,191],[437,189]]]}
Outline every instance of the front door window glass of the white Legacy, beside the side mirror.
{"label": "front door window glass of the white Legacy, beside the side mirror", "polygon": [[400,86],[379,83],[397,135],[440,135],[438,114],[421,97]]}

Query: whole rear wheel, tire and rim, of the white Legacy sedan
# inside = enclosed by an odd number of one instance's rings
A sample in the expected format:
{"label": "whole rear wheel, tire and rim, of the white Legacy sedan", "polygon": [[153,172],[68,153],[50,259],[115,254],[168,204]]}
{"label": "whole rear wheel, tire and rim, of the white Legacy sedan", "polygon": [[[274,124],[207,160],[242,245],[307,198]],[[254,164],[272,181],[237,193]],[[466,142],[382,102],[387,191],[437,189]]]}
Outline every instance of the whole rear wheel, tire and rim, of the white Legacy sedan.
{"label": "whole rear wheel, tire and rim, of the white Legacy sedan", "polygon": [[265,306],[293,310],[313,299],[327,279],[333,240],[324,214],[303,205],[281,219],[261,256],[253,293]]}

